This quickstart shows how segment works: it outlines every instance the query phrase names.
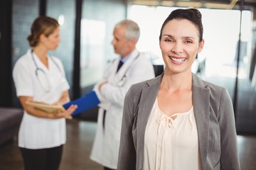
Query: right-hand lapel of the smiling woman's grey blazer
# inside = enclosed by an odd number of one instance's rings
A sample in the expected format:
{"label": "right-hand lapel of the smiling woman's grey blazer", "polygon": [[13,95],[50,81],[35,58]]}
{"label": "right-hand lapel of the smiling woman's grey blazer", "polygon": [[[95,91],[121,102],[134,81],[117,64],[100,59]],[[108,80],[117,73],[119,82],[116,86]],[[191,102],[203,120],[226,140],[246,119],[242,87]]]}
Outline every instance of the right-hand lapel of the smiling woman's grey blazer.
{"label": "right-hand lapel of the smiling woman's grey blazer", "polygon": [[203,169],[206,166],[206,156],[209,145],[209,122],[210,122],[210,91],[206,84],[193,75],[192,85],[193,108],[198,128],[198,141],[201,153]]}

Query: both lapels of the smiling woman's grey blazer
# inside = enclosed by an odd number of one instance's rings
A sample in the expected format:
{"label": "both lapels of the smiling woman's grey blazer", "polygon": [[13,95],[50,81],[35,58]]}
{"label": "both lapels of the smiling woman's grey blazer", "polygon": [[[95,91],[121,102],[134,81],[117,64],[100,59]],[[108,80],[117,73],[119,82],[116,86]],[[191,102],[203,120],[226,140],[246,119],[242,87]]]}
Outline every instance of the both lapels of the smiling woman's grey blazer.
{"label": "both lapels of the smiling woman's grey blazer", "polygon": [[[151,109],[156,100],[156,96],[159,92],[161,79],[164,73],[155,79],[146,81],[148,86],[142,89],[141,101],[146,101],[145,104],[141,103],[139,109],[138,120],[143,120],[142,126],[137,127],[140,131],[138,134],[144,134],[146,130],[146,123],[151,113]],[[201,153],[201,162],[206,163],[206,156],[208,152],[208,137],[209,137],[209,120],[210,120],[210,90],[206,81],[201,80],[196,74],[192,73],[192,100],[193,109],[196,117],[196,125],[198,129],[198,145]],[[144,142],[144,135],[141,140]],[[204,167],[205,164],[202,164]]]}

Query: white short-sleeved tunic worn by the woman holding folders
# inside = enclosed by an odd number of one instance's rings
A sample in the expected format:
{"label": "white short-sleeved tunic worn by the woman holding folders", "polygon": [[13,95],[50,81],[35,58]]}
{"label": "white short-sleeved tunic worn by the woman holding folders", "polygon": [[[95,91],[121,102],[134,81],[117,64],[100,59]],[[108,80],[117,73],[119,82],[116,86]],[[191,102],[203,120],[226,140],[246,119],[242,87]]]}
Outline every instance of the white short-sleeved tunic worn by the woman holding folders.
{"label": "white short-sleeved tunic worn by the woman holding folders", "polygon": [[[20,57],[14,65],[13,77],[16,95],[32,96],[33,101],[43,103],[57,102],[63,91],[70,88],[67,79],[65,79],[62,62],[57,57],[51,56],[49,58],[50,56],[48,56],[49,68],[46,68],[35,53],[33,56],[31,54],[31,49],[29,49],[26,55]],[[35,62],[33,62],[33,58]],[[43,70],[44,81],[38,81],[35,63],[38,68]],[[48,92],[42,86],[46,84],[47,79],[50,85]],[[66,142],[65,128],[65,118],[38,118],[24,111],[18,131],[18,147],[43,149],[63,145]]]}

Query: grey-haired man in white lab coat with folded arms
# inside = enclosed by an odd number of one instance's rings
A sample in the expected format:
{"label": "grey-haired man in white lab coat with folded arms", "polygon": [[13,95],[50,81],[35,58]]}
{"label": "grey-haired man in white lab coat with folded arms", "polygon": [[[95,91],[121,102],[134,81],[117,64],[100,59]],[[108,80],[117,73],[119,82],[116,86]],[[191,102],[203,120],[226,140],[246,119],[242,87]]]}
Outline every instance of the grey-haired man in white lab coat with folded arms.
{"label": "grey-haired man in white lab coat with folded arms", "polygon": [[[114,28],[112,45],[119,55],[110,62],[105,75],[95,86],[100,97],[100,109],[95,141],[90,158],[105,169],[117,169],[119,140],[122,124],[124,96],[129,87],[139,81],[154,77],[154,68],[146,57],[136,50],[139,26],[124,20]],[[119,60],[124,63],[117,71]]]}

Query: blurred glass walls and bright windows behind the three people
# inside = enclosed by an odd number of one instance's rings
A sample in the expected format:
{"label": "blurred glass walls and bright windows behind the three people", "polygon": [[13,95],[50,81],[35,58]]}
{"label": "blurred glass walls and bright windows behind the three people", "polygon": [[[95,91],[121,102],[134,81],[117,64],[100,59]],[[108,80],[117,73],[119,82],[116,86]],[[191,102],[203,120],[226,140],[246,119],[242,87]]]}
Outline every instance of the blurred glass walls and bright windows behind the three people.
{"label": "blurred glass walls and bright windows behind the three people", "polygon": [[[62,41],[51,55],[63,61],[72,99],[83,96],[117,57],[111,45],[114,24],[129,18],[141,28],[138,50],[152,64],[164,65],[159,31],[176,8],[198,8],[203,15],[205,47],[193,64],[202,79],[228,89],[238,133],[256,134],[256,1],[164,0],[1,0],[0,106],[20,108],[11,77],[14,63],[28,50],[26,40],[39,15],[56,18]],[[76,118],[97,120],[97,108]]]}

